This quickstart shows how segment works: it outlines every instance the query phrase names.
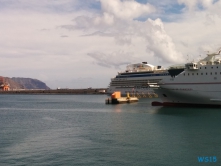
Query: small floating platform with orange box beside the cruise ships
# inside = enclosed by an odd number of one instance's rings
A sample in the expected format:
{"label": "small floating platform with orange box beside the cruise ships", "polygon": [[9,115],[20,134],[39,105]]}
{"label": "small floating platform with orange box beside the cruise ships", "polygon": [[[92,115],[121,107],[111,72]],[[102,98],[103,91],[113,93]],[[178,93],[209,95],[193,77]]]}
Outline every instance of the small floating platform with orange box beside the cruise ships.
{"label": "small floating platform with orange box beside the cruise ships", "polygon": [[111,95],[111,98],[107,98],[105,100],[106,104],[122,104],[122,103],[134,103],[138,102],[137,97],[130,97],[129,93],[127,94],[127,97],[121,97],[121,92],[114,92]]}

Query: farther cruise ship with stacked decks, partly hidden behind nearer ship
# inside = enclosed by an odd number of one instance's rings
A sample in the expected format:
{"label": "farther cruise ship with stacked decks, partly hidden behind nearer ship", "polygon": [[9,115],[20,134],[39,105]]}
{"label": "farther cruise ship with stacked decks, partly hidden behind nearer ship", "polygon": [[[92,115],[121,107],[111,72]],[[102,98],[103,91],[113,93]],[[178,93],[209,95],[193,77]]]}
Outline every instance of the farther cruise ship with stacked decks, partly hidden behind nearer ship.
{"label": "farther cruise ship with stacked decks, partly hidden behind nearer ship", "polygon": [[162,78],[168,77],[169,73],[161,66],[153,66],[147,62],[127,65],[124,72],[119,72],[108,87],[108,94],[120,91],[122,96],[130,94],[151,94],[153,89],[149,86],[157,84]]}

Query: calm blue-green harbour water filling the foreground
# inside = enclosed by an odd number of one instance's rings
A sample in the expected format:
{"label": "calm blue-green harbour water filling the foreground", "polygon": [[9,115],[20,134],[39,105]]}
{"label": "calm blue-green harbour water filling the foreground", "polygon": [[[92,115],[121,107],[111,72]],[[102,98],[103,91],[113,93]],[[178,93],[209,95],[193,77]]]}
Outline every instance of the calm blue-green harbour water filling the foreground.
{"label": "calm blue-green harbour water filling the foreground", "polygon": [[221,165],[221,109],[152,107],[153,99],[105,105],[105,98],[0,95],[0,165]]}

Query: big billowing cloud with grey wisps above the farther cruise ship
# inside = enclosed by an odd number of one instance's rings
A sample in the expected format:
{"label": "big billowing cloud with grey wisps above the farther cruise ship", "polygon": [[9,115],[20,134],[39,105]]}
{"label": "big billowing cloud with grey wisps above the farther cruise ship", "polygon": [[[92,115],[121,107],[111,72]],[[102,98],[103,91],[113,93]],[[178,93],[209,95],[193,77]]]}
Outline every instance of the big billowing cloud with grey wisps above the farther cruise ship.
{"label": "big billowing cloud with grey wisps above the farther cruise ship", "polygon": [[[102,66],[112,65],[116,67],[127,64],[129,61],[132,63],[144,58],[148,58],[152,62],[155,58],[167,63],[175,63],[178,59],[182,62],[182,54],[176,51],[173,40],[167,35],[163,22],[160,19],[148,19],[145,22],[133,20],[131,18],[133,13],[135,13],[135,17],[143,13],[139,7],[128,12],[128,15],[121,15],[121,9],[122,11],[130,11],[134,3],[137,4],[135,1],[101,0],[101,6],[103,7],[101,15],[93,17],[79,16],[73,20],[74,24],[62,27],[69,30],[81,29],[84,30],[84,33],[92,33],[94,35],[98,34],[96,32],[99,32],[99,34],[108,34],[108,37],[112,36],[115,39],[115,43],[113,43],[114,49],[111,52],[106,50],[102,52],[101,49],[94,49],[93,52],[88,52],[88,55],[93,57],[97,64]],[[140,6],[142,5],[140,4]],[[147,8],[145,9],[145,11],[150,12]],[[140,13],[136,14],[137,10]],[[140,43],[136,42],[137,39],[143,42],[143,47],[141,48],[143,52],[141,55],[136,53],[138,52],[138,45],[140,45]],[[134,51],[129,51],[131,47]]]}

